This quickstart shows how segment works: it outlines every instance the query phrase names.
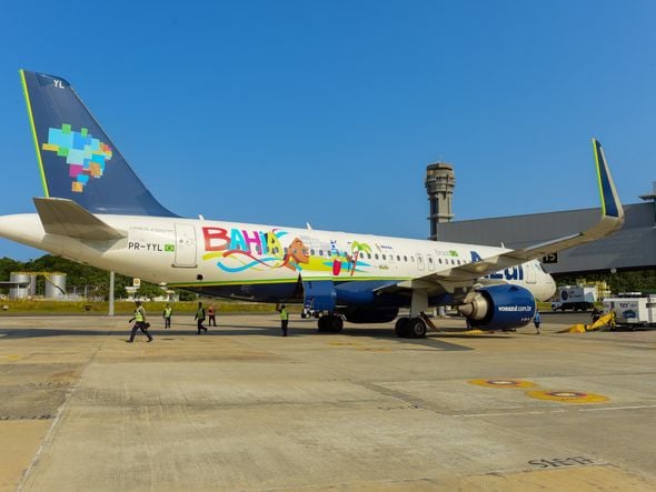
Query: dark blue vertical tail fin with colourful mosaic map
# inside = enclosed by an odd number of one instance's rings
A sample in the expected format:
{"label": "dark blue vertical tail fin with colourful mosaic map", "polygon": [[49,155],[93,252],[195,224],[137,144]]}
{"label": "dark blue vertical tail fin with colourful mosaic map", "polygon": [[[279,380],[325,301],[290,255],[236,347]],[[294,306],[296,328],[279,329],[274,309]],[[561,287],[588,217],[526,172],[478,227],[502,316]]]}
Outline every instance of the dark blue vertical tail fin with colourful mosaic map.
{"label": "dark blue vertical tail fin with colourful mosaic map", "polygon": [[91,213],[176,217],[148,191],[59,77],[20,70],[47,198],[73,200]]}

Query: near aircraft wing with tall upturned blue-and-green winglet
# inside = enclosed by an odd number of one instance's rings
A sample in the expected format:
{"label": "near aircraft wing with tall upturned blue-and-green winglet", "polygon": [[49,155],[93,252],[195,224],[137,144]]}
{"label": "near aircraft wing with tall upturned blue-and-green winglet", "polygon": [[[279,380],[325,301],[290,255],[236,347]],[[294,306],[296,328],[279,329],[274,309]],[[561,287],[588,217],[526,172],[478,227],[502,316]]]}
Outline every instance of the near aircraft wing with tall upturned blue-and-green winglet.
{"label": "near aircraft wing with tall upturned blue-and-green winglet", "polygon": [[[428,288],[429,291],[435,291],[435,288],[437,288],[436,284],[440,284],[446,287],[447,291],[450,291],[450,289],[448,289],[449,284],[470,282],[509,267],[515,267],[530,260],[543,258],[547,254],[596,241],[597,239],[605,238],[619,230],[624,223],[624,210],[619,202],[617,190],[615,189],[615,183],[613,182],[602,144],[595,139],[593,139],[593,149],[595,153],[599,192],[602,195],[602,218],[592,228],[576,234],[557,238],[520,250],[511,250],[494,257],[484,258],[483,260],[473,263],[440,270],[428,275],[413,279],[409,282],[401,282],[397,284],[397,287],[415,288],[415,285],[420,285],[420,288]],[[430,285],[433,285],[433,289]]]}

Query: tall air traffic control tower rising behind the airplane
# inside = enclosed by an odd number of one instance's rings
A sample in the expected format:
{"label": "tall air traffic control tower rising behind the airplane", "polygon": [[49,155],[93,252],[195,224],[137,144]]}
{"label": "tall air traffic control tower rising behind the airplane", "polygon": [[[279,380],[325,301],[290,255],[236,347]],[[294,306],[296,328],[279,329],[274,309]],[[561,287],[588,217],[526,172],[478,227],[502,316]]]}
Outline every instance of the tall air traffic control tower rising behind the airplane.
{"label": "tall air traffic control tower rising behind the airplane", "polygon": [[447,162],[435,162],[426,167],[426,191],[430,203],[430,237],[437,241],[437,223],[450,222],[454,218],[451,212],[451,199],[456,188],[456,174],[454,167]]}

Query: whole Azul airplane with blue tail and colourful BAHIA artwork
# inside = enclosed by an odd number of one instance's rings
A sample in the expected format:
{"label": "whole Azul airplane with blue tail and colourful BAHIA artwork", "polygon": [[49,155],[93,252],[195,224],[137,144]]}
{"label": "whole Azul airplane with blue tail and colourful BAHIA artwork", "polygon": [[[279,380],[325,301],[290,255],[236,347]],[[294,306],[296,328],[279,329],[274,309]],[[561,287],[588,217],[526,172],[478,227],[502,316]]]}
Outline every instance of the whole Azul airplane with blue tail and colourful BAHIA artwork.
{"label": "whole Azul airplane with blue tail and colourful BAHIA artwork", "polygon": [[556,284],[538,259],[617,231],[624,222],[600,143],[593,139],[602,218],[524,249],[188,219],[148,191],[73,88],[20,70],[43,197],[37,213],[0,217],[0,237],[125,275],[212,297],[304,303],[319,331],[398,318],[426,337],[425,312],[456,307],[486,331],[527,325]]}

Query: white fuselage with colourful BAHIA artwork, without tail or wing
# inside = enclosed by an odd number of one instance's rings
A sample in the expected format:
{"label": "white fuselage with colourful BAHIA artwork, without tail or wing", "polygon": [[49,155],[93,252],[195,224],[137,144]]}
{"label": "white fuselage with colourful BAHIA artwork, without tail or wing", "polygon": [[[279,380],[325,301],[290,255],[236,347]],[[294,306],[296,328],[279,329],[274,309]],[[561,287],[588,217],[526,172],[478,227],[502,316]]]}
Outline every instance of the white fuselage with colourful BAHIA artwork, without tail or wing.
{"label": "white fuselage with colourful BAHIA artwork, without tail or wing", "polygon": [[[198,219],[97,215],[126,234],[90,241],[47,234],[39,215],[0,217],[0,237],[105,270],[172,287],[305,280],[411,280],[448,274],[477,258],[509,251],[477,244],[389,238]],[[538,261],[489,275],[521,285],[536,300],[556,291]]]}

